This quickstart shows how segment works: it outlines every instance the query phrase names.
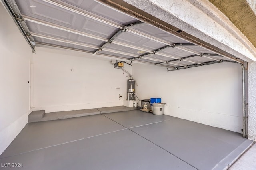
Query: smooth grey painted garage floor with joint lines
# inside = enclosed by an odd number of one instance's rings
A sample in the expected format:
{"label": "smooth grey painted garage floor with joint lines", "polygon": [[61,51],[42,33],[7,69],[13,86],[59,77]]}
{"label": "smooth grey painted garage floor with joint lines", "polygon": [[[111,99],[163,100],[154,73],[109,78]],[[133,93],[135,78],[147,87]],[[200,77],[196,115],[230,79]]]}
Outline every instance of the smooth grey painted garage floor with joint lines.
{"label": "smooth grey painted garage floor with joint lines", "polygon": [[251,144],[228,130],[123,111],[28,123],[0,156],[0,169],[222,170]]}

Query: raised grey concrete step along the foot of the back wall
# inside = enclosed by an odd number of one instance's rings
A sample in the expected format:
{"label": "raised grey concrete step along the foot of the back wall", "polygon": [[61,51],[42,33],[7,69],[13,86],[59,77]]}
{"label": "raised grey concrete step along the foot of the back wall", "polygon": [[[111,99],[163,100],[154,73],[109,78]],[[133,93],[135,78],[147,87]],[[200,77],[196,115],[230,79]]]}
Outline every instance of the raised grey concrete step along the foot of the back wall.
{"label": "raised grey concrete step along the foot of the back wall", "polygon": [[120,111],[130,111],[140,109],[140,107],[126,107],[126,106],[114,106],[114,107],[102,107],[96,109],[83,109],[76,111],[60,111],[60,112],[50,112],[45,113],[42,111],[32,111],[28,115],[28,122],[40,122],[40,121],[52,121],[58,119],[68,119],[72,117],[82,117],[88,115],[96,115],[101,113],[112,113],[112,112],[120,112]]}

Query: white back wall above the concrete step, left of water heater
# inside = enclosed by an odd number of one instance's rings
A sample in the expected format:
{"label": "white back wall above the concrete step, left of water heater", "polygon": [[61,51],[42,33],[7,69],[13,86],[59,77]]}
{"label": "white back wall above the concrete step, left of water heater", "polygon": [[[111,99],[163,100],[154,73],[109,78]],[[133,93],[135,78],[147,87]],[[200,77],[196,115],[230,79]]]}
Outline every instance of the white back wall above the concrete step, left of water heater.
{"label": "white back wall above the concrete step, left of water heater", "polygon": [[[110,59],[97,56],[37,47],[33,65],[34,110],[54,112],[123,105],[128,75],[114,69]],[[132,67],[124,64],[124,69],[131,73]]]}

